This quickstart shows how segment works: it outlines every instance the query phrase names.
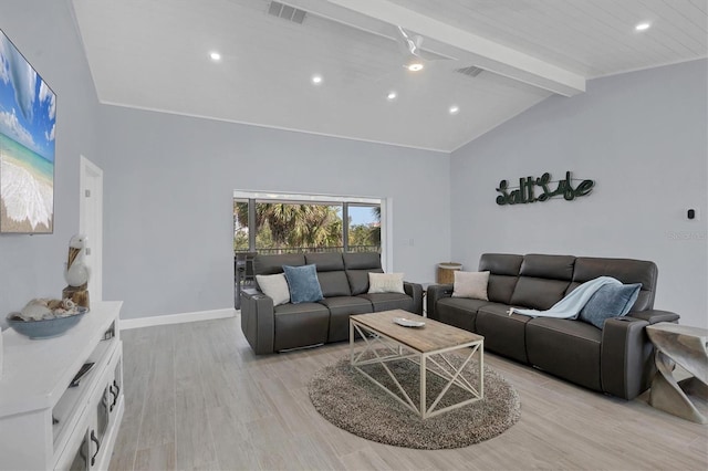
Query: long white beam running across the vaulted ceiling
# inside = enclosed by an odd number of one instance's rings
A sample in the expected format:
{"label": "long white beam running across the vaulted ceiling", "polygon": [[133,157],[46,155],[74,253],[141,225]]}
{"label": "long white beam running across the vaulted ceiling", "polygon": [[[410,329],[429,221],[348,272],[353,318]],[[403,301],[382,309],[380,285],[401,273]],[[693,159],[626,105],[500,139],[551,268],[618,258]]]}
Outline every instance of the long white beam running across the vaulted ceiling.
{"label": "long white beam running across the vaulted ceiling", "polygon": [[[309,3],[308,7],[311,8],[315,3],[311,1],[301,2]],[[327,2],[388,24],[400,25],[406,30],[423,35],[426,40],[430,39],[438,43],[454,46],[469,55],[473,65],[499,75],[563,96],[573,96],[585,92],[585,77],[580,74],[389,1],[327,0]],[[325,8],[324,10],[326,10],[326,17],[336,20],[331,8]],[[313,11],[313,13],[317,14],[317,11]],[[347,20],[343,22],[351,22],[351,18],[347,18]]]}

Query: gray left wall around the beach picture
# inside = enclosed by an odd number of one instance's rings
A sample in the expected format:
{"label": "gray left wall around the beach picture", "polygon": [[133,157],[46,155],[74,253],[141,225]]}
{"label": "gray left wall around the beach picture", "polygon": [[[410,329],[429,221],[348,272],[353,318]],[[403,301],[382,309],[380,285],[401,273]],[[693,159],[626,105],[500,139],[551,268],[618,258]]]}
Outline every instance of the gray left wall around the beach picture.
{"label": "gray left wall around the beach picture", "polygon": [[56,94],[54,233],[0,236],[0,318],[32,297],[61,296],[69,239],[79,231],[79,156],[101,165],[98,102],[66,1],[2,0],[0,29]]}

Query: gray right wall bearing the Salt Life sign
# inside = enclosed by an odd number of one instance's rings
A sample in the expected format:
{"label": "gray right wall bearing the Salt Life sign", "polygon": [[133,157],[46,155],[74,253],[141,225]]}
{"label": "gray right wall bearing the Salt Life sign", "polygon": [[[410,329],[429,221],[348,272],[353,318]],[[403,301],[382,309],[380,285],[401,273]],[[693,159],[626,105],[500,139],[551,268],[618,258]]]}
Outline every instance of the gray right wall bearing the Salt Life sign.
{"label": "gray right wall bearing the Salt Life sign", "polygon": [[[705,60],[593,80],[452,153],[452,258],[468,269],[490,251],[653,260],[655,307],[707,326],[707,83]],[[502,179],[566,170],[595,180],[593,192],[494,202]]]}

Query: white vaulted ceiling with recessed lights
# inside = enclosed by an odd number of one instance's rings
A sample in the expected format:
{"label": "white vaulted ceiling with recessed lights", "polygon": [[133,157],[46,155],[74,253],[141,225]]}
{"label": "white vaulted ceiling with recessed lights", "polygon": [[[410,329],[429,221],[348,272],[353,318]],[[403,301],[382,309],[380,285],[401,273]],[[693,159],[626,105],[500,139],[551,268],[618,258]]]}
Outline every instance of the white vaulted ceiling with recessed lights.
{"label": "white vaulted ceiling with recessed lights", "polygon": [[71,1],[102,103],[444,151],[589,78],[708,56],[706,0]]}

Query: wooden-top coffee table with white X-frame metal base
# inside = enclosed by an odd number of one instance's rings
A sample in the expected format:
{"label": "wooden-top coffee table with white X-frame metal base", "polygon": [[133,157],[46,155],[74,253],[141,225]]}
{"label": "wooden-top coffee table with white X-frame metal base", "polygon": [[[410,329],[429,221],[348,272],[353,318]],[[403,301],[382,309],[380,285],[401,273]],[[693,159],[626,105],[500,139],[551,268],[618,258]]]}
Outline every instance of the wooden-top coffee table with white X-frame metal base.
{"label": "wooden-top coffee table with white X-frame metal base", "polygon": [[[394,323],[394,320],[399,317],[425,322],[425,325],[421,327],[404,327]],[[358,333],[364,339],[364,347],[358,350],[355,349],[354,344],[355,333]],[[384,350],[384,354],[382,354],[382,350]],[[456,350],[464,353],[465,359],[459,367],[450,363],[445,356],[445,354]],[[475,355],[479,357],[479,379],[472,385],[461,373]],[[350,316],[350,356],[351,365],[354,369],[419,415],[421,419],[457,409],[485,397],[485,337],[406,311],[394,310]],[[402,359],[419,365],[419,404],[410,399],[408,393],[400,386],[400,383],[387,365],[391,362]],[[386,370],[397,390],[392,390],[384,386],[361,368],[362,366],[374,364],[381,365]],[[437,375],[447,381],[429,407],[426,400],[426,378],[428,374]],[[469,393],[469,398],[438,408],[440,400],[454,385]]]}

